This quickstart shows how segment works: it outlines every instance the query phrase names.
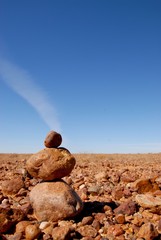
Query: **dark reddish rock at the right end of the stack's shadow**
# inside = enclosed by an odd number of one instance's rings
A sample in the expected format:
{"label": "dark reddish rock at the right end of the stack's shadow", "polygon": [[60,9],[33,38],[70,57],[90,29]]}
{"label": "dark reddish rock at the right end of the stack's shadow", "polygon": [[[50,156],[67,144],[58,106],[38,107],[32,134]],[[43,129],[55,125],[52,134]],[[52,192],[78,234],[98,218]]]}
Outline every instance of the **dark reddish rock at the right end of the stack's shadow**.
{"label": "dark reddish rock at the right end of the stack's shadow", "polygon": [[127,201],[122,204],[120,204],[119,207],[114,209],[115,214],[126,214],[126,215],[132,215],[136,212],[136,203],[133,201]]}

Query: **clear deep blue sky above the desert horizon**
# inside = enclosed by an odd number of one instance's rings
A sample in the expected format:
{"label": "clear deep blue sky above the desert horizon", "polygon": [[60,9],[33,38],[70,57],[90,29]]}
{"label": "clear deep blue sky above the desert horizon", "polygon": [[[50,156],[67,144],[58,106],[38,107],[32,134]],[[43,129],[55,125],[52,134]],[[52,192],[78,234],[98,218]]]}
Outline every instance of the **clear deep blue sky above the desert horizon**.
{"label": "clear deep blue sky above the desert horizon", "polygon": [[160,0],[1,0],[0,152],[161,152]]}

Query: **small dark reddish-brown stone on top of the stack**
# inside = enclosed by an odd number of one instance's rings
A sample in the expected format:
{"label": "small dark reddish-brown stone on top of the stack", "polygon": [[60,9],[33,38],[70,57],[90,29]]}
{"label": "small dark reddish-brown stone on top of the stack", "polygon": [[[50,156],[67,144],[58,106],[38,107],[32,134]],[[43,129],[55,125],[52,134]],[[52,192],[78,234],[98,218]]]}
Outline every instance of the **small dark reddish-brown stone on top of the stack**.
{"label": "small dark reddish-brown stone on top of the stack", "polygon": [[44,145],[47,148],[57,148],[61,145],[61,143],[62,136],[55,131],[50,131],[44,141]]}

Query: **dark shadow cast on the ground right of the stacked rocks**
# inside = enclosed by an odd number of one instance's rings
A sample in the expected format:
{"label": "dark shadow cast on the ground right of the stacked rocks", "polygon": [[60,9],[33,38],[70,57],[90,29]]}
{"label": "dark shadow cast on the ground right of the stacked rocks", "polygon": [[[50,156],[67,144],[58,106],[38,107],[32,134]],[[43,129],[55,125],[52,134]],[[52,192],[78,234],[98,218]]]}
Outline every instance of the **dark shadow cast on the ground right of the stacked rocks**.
{"label": "dark shadow cast on the ground right of the stacked rocks", "polygon": [[103,213],[104,206],[109,206],[112,208],[112,210],[117,207],[115,202],[84,202],[82,212],[74,218],[75,222],[80,222],[84,217],[92,216],[93,213]]}

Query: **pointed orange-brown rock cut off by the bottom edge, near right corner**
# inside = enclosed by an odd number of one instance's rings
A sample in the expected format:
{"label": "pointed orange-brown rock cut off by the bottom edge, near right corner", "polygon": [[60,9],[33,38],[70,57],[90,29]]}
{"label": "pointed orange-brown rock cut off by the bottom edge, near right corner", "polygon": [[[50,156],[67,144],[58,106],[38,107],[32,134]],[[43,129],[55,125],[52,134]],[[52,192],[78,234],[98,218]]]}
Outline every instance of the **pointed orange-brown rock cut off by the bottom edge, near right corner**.
{"label": "pointed orange-brown rock cut off by the bottom edge, near right corner", "polygon": [[155,229],[154,224],[152,223],[145,223],[141,226],[137,236],[146,240],[152,240],[158,237],[158,232]]}

